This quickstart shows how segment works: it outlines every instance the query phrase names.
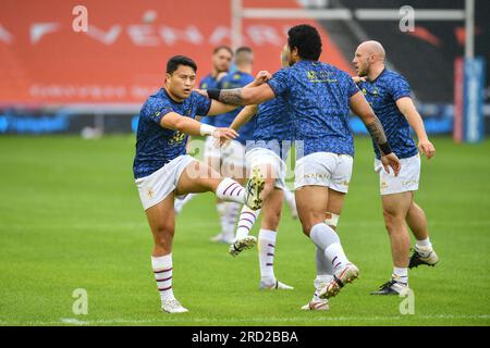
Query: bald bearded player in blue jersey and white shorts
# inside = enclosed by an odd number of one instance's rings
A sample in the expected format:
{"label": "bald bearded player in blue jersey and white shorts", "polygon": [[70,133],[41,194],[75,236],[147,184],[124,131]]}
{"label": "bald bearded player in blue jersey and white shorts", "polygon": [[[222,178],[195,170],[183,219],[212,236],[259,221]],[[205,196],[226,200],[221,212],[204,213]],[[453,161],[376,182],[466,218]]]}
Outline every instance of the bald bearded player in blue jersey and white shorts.
{"label": "bald bearded player in blue jersey and white shorts", "polygon": [[[408,268],[434,265],[439,260],[429,239],[426,215],[414,200],[420,176],[418,150],[430,159],[436,149],[412,101],[408,83],[402,75],[385,69],[384,58],[381,44],[366,41],[357,48],[353,63],[358,75],[355,80],[381,121],[402,163],[399,176],[384,173],[380,167],[379,149],[375,146],[375,170],[379,174],[384,223],[391,240],[393,274],[388,283],[371,294],[399,295],[408,289]],[[411,136],[411,126],[417,135],[418,149]],[[411,258],[411,238],[405,223],[416,238]]]}

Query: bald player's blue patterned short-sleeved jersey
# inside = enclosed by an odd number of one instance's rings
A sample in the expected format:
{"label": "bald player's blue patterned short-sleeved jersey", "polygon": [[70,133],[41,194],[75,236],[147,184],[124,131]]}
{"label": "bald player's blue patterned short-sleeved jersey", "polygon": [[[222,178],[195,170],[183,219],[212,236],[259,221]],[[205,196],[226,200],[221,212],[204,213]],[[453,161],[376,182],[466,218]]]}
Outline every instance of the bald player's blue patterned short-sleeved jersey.
{"label": "bald player's blue patterned short-sleeved jersey", "polygon": [[[402,75],[387,69],[375,79],[359,83],[359,88],[383,125],[393,152],[405,159],[417,154],[417,146],[411,136],[411,126],[396,107],[396,100],[411,97],[411,87]],[[373,144],[376,157],[380,158]]]}

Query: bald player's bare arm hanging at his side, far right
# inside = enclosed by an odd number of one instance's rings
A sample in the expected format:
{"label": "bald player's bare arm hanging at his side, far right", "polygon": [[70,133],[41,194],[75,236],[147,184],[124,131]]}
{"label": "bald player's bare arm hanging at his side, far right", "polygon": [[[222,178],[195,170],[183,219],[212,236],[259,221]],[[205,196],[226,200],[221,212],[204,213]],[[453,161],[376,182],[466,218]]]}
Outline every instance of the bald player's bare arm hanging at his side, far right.
{"label": "bald player's bare arm hanging at his side, far right", "polygon": [[414,128],[415,134],[418,138],[418,149],[428,159],[431,159],[436,154],[436,148],[432,142],[429,141],[429,137],[426,133],[426,127],[424,126],[424,121],[418,113],[417,109],[409,97],[403,97],[396,100],[396,107],[400,112],[405,116],[406,121],[412,128]]}

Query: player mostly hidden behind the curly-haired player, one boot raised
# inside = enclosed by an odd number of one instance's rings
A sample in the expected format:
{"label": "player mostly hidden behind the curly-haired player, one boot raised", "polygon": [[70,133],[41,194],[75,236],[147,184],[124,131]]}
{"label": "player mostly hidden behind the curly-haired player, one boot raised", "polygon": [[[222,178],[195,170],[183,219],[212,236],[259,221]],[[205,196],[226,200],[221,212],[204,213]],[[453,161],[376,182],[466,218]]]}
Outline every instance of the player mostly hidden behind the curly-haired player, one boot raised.
{"label": "player mostly hidden behind the curly-haired player, one boot raised", "polygon": [[[286,47],[281,53],[282,66],[289,66]],[[224,87],[224,86],[223,86]],[[256,115],[256,116],[255,116]],[[278,119],[282,119],[278,122]],[[247,167],[259,167],[265,175],[262,190],[262,219],[258,234],[260,265],[260,289],[293,289],[279,282],[274,275],[275,240],[281,217],[284,196],[294,195],[285,186],[285,159],[292,144],[293,122],[282,97],[266,101],[260,105],[245,107],[231,124],[231,128],[241,132],[247,125],[254,125],[252,139],[246,144]],[[293,209],[296,208],[294,203]],[[244,206],[240,215],[236,236],[230,247],[230,254],[238,256],[243,250],[257,244],[249,235],[260,210],[253,211]]]}

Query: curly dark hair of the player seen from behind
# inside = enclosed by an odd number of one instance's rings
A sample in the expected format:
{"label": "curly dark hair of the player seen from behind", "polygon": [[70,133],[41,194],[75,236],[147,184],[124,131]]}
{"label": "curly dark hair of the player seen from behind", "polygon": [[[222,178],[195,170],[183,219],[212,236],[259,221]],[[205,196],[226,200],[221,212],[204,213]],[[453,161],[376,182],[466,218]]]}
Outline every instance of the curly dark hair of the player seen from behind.
{"label": "curly dark hair of the player seen from behind", "polygon": [[302,59],[318,61],[321,54],[321,38],[316,27],[308,24],[293,26],[287,32],[287,46],[297,48]]}

